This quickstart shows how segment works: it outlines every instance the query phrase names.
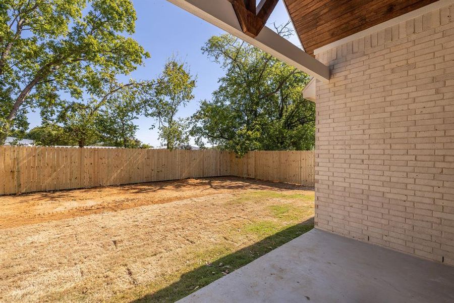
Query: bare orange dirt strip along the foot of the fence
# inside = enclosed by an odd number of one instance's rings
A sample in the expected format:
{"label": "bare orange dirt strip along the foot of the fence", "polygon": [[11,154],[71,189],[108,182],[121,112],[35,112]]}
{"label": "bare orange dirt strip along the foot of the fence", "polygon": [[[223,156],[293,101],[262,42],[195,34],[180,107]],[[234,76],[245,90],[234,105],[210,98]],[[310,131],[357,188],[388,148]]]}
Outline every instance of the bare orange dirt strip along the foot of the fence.
{"label": "bare orange dirt strip along the foot of the fence", "polygon": [[0,229],[245,189],[296,188],[304,189],[250,179],[211,178],[0,196]]}

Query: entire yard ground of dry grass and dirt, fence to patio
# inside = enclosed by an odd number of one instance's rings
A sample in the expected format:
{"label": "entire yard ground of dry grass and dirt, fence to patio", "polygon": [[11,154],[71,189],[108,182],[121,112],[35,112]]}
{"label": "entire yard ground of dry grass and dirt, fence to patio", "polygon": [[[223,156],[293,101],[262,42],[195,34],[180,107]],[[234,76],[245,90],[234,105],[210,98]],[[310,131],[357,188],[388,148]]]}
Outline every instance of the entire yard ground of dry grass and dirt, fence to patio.
{"label": "entire yard ground of dry grass and dirt, fence to patio", "polygon": [[205,178],[0,197],[0,301],[175,301],[313,228],[314,192]]}

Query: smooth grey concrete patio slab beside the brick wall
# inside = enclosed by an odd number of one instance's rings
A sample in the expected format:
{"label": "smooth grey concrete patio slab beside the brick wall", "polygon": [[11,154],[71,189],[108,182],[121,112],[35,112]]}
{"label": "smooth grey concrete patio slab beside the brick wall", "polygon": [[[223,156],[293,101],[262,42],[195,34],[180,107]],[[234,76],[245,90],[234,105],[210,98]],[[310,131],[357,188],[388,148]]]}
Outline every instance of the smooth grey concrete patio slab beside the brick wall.
{"label": "smooth grey concrete patio slab beside the brick wall", "polygon": [[454,267],[312,230],[181,299],[454,302]]}

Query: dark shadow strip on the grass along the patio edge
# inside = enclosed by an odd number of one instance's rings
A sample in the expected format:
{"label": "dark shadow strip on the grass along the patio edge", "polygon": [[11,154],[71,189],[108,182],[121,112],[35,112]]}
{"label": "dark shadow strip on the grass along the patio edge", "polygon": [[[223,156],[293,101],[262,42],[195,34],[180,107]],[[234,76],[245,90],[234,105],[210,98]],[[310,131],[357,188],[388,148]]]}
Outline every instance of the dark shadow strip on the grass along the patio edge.
{"label": "dark shadow strip on the grass along the patio edge", "polygon": [[222,272],[234,270],[267,254],[267,252],[304,234],[314,227],[314,218],[279,231],[252,245],[222,257],[210,265],[198,267],[183,274],[180,280],[154,293],[147,294],[132,302],[175,302],[197,289],[224,276]]}

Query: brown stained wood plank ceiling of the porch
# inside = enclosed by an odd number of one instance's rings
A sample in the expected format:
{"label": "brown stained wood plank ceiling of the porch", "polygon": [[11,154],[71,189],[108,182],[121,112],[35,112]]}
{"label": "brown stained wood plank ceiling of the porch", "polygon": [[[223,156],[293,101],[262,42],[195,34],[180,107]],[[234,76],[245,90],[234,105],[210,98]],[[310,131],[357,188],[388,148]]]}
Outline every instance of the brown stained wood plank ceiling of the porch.
{"label": "brown stained wood plank ceiling of the porch", "polygon": [[306,53],[437,0],[283,0]]}

